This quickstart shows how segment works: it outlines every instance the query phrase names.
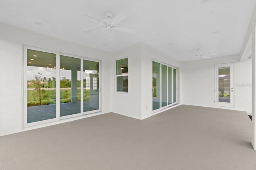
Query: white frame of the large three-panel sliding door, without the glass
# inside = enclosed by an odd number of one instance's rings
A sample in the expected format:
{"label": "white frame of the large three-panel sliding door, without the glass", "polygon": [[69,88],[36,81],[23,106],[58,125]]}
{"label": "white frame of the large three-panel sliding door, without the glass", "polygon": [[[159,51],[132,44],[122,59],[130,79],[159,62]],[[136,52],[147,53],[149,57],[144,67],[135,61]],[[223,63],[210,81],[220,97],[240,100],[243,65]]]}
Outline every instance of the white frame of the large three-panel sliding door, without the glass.
{"label": "white frame of the large three-panel sliding door, without the glass", "polygon": [[[46,120],[42,120],[42,121],[35,121],[35,122],[31,122],[31,123],[27,123],[27,51],[28,49],[31,50],[36,50],[36,51],[42,51],[42,52],[46,52],[46,53],[53,53],[56,55],[56,118],[53,119],[46,119]],[[77,56],[77,55],[70,55],[70,54],[66,54],[66,53],[61,53],[58,51],[52,51],[52,50],[47,50],[47,49],[42,49],[42,48],[38,48],[38,47],[32,47],[32,46],[28,46],[28,45],[22,45],[22,54],[23,54],[23,58],[22,58],[22,129],[27,128],[27,127],[32,127],[32,126],[36,126],[36,125],[42,125],[42,124],[46,124],[46,123],[52,123],[52,122],[56,122],[56,121],[60,121],[62,119],[68,119],[68,118],[72,118],[72,117],[78,117],[78,116],[82,116],[82,115],[88,115],[91,113],[96,113],[96,112],[100,112],[101,111],[101,104],[102,104],[102,95],[101,95],[101,87],[102,87],[102,78],[101,78],[101,61],[100,60],[96,60],[96,59],[91,59],[88,57],[81,57],[81,56]],[[80,113],[76,113],[76,114],[72,114],[72,115],[66,115],[66,116],[62,116],[60,117],[60,55],[64,55],[67,57],[73,57],[73,58],[78,58],[80,59],[80,68],[83,68],[83,62],[84,60],[88,60],[88,61],[95,61],[99,63],[99,74],[98,74],[98,80],[99,80],[99,88],[98,88],[98,92],[99,92],[99,108],[96,110],[92,110],[92,111],[83,111],[83,69],[80,69]]]}

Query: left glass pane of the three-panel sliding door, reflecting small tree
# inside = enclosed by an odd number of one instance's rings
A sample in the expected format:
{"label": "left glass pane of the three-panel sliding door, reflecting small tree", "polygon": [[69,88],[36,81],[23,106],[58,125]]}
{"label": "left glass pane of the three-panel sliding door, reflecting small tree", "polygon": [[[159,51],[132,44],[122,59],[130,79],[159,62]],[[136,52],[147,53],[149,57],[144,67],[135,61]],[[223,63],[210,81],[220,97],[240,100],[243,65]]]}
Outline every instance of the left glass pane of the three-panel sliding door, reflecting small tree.
{"label": "left glass pane of the three-panel sliding door, reflecting small tree", "polygon": [[56,54],[27,49],[27,123],[56,118]]}

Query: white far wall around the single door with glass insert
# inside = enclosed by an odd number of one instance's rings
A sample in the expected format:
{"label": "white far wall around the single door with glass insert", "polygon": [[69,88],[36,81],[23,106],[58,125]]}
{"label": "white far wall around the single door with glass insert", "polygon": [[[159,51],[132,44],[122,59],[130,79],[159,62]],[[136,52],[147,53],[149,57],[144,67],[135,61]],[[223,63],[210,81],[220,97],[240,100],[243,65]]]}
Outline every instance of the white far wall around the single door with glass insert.
{"label": "white far wall around the single door with glass insert", "polygon": [[234,109],[252,113],[252,60],[240,62],[239,55],[182,63],[183,104],[214,107],[214,64],[234,63]]}

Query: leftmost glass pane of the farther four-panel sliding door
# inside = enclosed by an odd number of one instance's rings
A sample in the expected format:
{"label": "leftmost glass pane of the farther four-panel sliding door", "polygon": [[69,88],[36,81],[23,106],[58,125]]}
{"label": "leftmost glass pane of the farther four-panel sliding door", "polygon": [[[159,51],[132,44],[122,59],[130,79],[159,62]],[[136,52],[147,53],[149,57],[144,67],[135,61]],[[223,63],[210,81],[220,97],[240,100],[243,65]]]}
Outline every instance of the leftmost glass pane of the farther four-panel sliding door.
{"label": "leftmost glass pane of the farther four-panel sliding door", "polygon": [[152,63],[152,109],[160,109],[160,63]]}

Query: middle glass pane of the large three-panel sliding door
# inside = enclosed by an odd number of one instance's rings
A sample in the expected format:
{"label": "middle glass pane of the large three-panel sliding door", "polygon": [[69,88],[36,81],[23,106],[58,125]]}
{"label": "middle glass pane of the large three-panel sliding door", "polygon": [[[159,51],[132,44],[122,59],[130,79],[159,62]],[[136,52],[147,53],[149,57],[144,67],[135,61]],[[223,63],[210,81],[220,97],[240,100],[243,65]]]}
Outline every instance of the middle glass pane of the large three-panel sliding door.
{"label": "middle glass pane of the large three-panel sliding door", "polygon": [[60,116],[80,113],[80,59],[60,56]]}

